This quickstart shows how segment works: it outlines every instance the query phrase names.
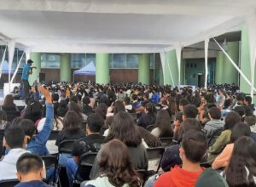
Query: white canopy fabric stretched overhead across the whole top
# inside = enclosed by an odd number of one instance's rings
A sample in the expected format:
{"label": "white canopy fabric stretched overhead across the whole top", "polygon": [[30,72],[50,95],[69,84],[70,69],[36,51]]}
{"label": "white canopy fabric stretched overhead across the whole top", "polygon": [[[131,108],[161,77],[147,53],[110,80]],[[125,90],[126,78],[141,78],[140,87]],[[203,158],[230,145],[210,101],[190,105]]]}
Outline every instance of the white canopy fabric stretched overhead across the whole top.
{"label": "white canopy fabric stretched overhead across the whole top", "polygon": [[255,0],[2,0],[0,38],[30,52],[157,53],[240,30]]}

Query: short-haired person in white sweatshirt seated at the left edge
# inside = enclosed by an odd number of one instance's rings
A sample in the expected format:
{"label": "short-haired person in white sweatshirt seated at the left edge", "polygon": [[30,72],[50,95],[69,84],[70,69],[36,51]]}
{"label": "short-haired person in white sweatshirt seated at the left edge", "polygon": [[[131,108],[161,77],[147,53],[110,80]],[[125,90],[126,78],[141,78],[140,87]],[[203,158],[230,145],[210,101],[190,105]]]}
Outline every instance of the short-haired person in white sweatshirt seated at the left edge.
{"label": "short-haired person in white sweatshirt seated at the left edge", "polygon": [[9,127],[4,132],[3,146],[9,150],[8,154],[0,161],[0,180],[15,179],[16,161],[28,152],[24,130],[19,127]]}

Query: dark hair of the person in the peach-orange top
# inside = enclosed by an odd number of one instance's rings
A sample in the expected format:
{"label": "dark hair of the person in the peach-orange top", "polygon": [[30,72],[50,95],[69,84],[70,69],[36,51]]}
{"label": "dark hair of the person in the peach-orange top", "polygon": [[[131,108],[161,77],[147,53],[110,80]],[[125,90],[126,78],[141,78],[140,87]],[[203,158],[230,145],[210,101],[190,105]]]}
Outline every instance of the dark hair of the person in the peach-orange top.
{"label": "dark hair of the person in the peach-orange top", "polygon": [[232,129],[230,142],[234,143],[236,139],[240,138],[241,136],[250,136],[250,135],[251,135],[251,129],[247,125],[247,123],[238,122]]}

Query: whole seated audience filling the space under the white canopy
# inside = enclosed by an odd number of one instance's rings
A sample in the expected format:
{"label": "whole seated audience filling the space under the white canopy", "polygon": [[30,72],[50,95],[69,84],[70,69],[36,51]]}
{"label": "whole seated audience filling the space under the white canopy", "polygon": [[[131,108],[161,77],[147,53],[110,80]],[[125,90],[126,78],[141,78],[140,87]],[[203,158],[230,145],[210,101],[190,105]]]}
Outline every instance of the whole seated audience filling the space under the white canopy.
{"label": "whole seated audience filling the space under the white canopy", "polygon": [[253,99],[235,85],[49,82],[22,111],[14,92],[0,111],[0,186],[256,186]]}

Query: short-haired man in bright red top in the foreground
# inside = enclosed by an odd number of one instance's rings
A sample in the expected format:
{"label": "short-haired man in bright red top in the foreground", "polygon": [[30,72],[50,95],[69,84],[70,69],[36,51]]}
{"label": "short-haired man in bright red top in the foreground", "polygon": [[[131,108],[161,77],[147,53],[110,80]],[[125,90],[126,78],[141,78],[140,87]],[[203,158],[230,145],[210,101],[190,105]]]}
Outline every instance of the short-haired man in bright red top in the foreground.
{"label": "short-haired man in bright red top in the foreground", "polygon": [[170,172],[163,173],[156,180],[154,187],[194,187],[197,178],[203,172],[201,159],[207,152],[207,138],[204,133],[189,130],[183,134],[179,156],[182,167],[174,167]]}

